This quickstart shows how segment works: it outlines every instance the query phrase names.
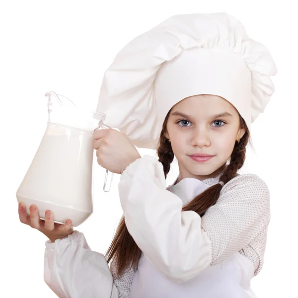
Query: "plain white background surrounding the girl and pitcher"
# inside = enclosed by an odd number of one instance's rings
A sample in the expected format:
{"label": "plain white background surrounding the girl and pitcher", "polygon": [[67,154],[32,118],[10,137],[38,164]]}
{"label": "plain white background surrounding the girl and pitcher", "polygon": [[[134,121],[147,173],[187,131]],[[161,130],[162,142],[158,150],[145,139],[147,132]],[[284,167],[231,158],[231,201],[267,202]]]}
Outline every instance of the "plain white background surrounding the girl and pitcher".
{"label": "plain white background surrounding the girl and pitcher", "polygon": [[[15,193],[46,129],[53,90],[96,108],[102,76],[129,41],[174,14],[228,12],[263,43],[278,68],[276,91],[252,124],[255,151],[242,173],[264,179],[271,193],[265,263],[251,281],[258,298],[297,297],[297,28],[294,1],[1,1],[0,4],[0,297],[56,297],[43,280],[46,236],[21,224]],[[155,151],[139,149],[141,155]],[[102,191],[96,165],[93,214],[76,229],[105,253],[122,215],[120,175]],[[173,163],[167,178],[178,174]],[[98,281],[100,282],[100,281]],[[5,295],[4,295],[5,294]],[[198,296],[199,297],[199,296]]]}

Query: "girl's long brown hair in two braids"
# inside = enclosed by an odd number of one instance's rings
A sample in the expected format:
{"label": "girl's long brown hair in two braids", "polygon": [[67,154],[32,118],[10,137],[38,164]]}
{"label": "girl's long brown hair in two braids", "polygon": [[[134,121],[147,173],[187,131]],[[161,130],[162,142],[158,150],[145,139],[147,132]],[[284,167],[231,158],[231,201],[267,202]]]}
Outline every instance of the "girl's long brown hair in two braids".
{"label": "girl's long brown hair in two braids", "polygon": [[[170,110],[171,111],[171,110]],[[163,165],[164,176],[166,178],[169,170],[170,164],[174,159],[174,153],[171,147],[171,143],[164,136],[166,132],[166,124],[170,114],[170,111],[165,117],[163,122],[162,130],[160,133],[159,142],[157,144],[157,155],[158,161]],[[243,166],[246,153],[246,145],[249,142],[250,146],[250,133],[245,124],[244,119],[239,115],[240,120],[240,129],[245,129],[245,134],[240,139],[240,142],[235,142],[234,149],[229,158],[229,164],[224,164],[220,167],[214,174],[215,176],[219,175],[221,172],[223,174],[220,177],[220,181],[223,181],[224,184],[229,180],[233,179],[237,175],[237,171]],[[219,196],[222,189],[222,185],[217,183],[207,188],[204,192],[194,197],[187,205],[182,208],[182,211],[195,211],[201,217],[204,216],[205,212],[209,207],[213,206]],[[106,253],[106,260],[109,263],[111,259],[112,262],[115,262],[117,268],[117,276],[121,276],[126,270],[129,270],[132,266],[134,270],[138,268],[138,262],[141,257],[142,251],[129,233],[126,224],[124,215],[121,217],[119,225],[117,227],[115,236],[111,242],[110,247]],[[114,264],[113,264],[114,265]]]}

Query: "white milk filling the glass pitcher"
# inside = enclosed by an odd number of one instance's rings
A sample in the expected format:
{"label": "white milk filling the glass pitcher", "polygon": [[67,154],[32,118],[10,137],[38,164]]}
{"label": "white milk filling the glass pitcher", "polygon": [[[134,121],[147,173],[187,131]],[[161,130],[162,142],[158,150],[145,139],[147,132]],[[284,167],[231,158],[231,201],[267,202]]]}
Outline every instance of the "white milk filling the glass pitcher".
{"label": "white milk filling the glass pitcher", "polygon": [[92,133],[48,123],[35,157],[17,190],[17,201],[35,204],[44,220],[51,210],[54,222],[84,222],[92,206]]}

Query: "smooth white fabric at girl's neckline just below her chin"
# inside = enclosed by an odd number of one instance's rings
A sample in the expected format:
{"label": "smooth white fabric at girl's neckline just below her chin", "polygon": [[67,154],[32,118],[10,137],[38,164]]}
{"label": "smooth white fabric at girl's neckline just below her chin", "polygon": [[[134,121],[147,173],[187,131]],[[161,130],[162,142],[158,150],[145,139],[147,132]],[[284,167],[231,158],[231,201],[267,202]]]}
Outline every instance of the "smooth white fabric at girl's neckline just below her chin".
{"label": "smooth white fabric at girl's neckline just below her chin", "polygon": [[217,177],[214,178],[207,178],[204,180],[199,180],[196,178],[184,178],[180,180],[177,184],[175,182],[168,186],[166,189],[173,194],[177,195],[183,202],[183,205],[187,204],[191,201],[195,196],[202,193],[204,190],[209,188],[210,186],[217,184],[220,181],[220,173]]}

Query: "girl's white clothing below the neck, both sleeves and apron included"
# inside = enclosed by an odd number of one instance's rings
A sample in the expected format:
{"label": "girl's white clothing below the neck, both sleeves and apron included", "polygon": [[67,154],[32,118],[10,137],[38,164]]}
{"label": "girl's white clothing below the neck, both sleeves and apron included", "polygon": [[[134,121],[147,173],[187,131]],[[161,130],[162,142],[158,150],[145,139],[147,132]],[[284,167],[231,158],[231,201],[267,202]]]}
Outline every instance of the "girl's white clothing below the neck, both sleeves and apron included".
{"label": "girl's white clothing below the neck, both sleeves and apron included", "polygon": [[119,183],[126,225],[142,250],[137,271],[116,278],[104,255],[74,231],[46,242],[45,282],[59,297],[71,298],[255,298],[249,284],[263,265],[270,221],[266,183],[238,175],[202,218],[181,212],[219,177],[184,178],[166,188],[157,158],[137,159]]}

